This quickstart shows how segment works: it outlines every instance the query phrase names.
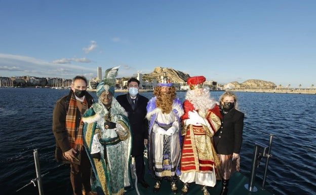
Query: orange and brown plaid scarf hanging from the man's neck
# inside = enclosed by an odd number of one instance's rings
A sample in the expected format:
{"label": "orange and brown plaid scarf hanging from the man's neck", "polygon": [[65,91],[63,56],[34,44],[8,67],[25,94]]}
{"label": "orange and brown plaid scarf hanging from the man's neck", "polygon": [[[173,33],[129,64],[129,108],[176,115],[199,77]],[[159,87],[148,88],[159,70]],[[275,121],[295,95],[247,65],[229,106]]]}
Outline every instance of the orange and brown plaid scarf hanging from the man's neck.
{"label": "orange and brown plaid scarf hanging from the man's neck", "polygon": [[[87,109],[87,100],[85,98],[84,104],[82,107],[82,112]],[[74,95],[71,96],[69,101],[69,107],[66,115],[66,129],[68,132],[68,140],[70,146],[73,149],[81,150],[84,144],[83,137],[83,122],[80,121],[78,130],[76,131],[76,111],[77,111],[77,102]]]}

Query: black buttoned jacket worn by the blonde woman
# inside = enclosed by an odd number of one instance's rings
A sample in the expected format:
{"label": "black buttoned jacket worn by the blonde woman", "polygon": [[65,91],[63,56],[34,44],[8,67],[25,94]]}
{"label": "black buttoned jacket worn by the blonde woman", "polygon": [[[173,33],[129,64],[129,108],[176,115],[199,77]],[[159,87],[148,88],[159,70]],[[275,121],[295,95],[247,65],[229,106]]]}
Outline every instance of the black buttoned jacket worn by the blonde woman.
{"label": "black buttoned jacket worn by the blonde woman", "polygon": [[240,153],[243,143],[244,116],[243,112],[235,108],[223,114],[221,128],[213,136],[218,154]]}

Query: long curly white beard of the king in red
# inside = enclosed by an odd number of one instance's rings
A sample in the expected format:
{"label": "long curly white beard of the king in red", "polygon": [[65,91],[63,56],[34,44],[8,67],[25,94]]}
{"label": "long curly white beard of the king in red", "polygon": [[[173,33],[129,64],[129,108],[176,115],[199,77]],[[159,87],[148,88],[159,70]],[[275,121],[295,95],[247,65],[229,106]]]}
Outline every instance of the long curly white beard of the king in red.
{"label": "long curly white beard of the king in red", "polygon": [[203,93],[201,95],[196,95],[194,90],[188,90],[185,99],[190,101],[196,110],[201,110],[203,112],[214,108],[216,104],[218,105],[218,102],[211,97],[208,88],[203,88]]}

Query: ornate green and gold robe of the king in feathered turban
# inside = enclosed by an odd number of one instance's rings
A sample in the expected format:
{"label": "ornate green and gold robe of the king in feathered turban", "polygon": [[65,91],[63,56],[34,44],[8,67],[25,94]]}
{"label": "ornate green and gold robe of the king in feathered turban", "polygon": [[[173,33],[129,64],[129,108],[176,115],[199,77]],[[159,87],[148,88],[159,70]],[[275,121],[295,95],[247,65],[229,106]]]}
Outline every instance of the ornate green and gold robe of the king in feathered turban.
{"label": "ornate green and gold robe of the king in feathered turban", "polygon": [[[116,123],[116,127],[106,129],[106,120]],[[132,189],[131,127],[124,108],[114,98],[109,109],[99,101],[84,114],[83,121],[84,143],[96,176],[97,191],[120,195],[125,189]],[[101,153],[100,161],[91,157],[91,153],[97,152]]]}

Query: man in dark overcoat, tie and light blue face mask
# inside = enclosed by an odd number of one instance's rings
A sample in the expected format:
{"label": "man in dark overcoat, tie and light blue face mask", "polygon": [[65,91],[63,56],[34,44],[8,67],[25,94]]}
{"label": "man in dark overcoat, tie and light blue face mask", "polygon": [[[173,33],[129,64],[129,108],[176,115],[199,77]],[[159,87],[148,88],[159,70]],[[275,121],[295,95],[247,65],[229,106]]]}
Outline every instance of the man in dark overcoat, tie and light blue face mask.
{"label": "man in dark overcoat, tie and light blue face mask", "polygon": [[135,159],[137,181],[143,187],[149,188],[148,183],[144,180],[144,149],[148,141],[148,121],[145,116],[148,98],[139,95],[139,81],[137,79],[130,79],[127,85],[129,92],[117,96],[116,100],[128,112],[132,127],[132,157]]}

